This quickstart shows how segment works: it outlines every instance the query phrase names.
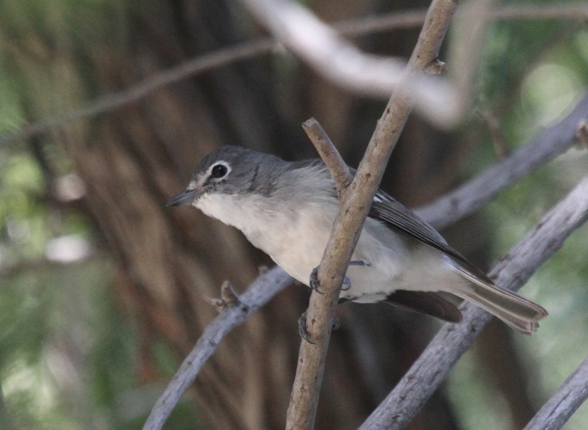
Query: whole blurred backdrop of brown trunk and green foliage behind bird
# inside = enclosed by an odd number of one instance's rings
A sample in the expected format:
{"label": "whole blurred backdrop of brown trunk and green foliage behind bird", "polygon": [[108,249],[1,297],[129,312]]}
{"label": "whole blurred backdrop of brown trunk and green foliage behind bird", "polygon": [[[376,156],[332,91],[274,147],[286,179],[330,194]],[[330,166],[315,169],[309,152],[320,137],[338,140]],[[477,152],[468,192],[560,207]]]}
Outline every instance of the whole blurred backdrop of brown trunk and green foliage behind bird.
{"label": "whole blurred backdrop of brown trunk and green foliage behind bird", "polygon": [[[338,22],[421,1],[315,0]],[[450,133],[407,123],[382,188],[409,207],[435,199],[553,125],[588,85],[586,16],[493,22],[475,108]],[[577,5],[577,3],[576,3]],[[225,0],[0,0],[0,132],[79,112],[189,59],[265,35]],[[553,7],[555,6],[555,7]],[[558,15],[558,14],[555,14]],[[407,58],[419,27],[356,37]],[[460,43],[450,31],[441,58]],[[459,67],[449,63],[449,67]],[[316,157],[300,123],[322,123],[356,166],[385,102],[336,88],[266,51],[126,105],[0,147],[0,426],[133,429],[215,316],[222,281],[242,291],[272,266],[242,235],[169,209],[201,157],[226,143]],[[574,147],[443,234],[487,270],[588,170]],[[522,428],[588,351],[587,227],[521,290],[550,313],[533,337],[492,322],[411,429]],[[291,285],[222,342],[168,429],[283,428],[309,292]],[[339,308],[317,428],[356,428],[439,327],[383,304]],[[586,429],[581,407],[564,426]]]}

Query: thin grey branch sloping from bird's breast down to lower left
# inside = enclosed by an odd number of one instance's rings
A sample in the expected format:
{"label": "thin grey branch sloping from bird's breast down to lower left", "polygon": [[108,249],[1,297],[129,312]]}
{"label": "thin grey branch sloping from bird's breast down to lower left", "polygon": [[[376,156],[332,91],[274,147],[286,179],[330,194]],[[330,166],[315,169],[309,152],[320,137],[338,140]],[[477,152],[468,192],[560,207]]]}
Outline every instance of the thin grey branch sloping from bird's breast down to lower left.
{"label": "thin grey branch sloping from bird's breast down to lower left", "polygon": [[274,267],[259,276],[250,287],[239,296],[238,304],[226,307],[208,324],[196,342],[192,352],[182,362],[172,381],[158,399],[143,426],[143,430],[159,430],[180,398],[190,387],[202,365],[215,352],[220,341],[242,322],[245,322],[260,307],[292,283],[292,278],[279,267]]}

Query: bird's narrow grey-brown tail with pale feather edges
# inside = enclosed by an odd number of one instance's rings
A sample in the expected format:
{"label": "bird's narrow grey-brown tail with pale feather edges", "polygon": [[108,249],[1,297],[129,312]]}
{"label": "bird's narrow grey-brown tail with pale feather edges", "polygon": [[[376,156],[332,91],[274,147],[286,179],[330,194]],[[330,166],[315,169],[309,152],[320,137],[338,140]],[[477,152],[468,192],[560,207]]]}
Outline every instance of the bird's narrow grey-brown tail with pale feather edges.
{"label": "bird's narrow grey-brown tail with pale feather edges", "polygon": [[510,327],[525,334],[532,334],[539,328],[539,320],[547,316],[547,311],[512,291],[486,283],[469,273],[460,274],[470,282],[459,283],[455,294],[471,301]]}

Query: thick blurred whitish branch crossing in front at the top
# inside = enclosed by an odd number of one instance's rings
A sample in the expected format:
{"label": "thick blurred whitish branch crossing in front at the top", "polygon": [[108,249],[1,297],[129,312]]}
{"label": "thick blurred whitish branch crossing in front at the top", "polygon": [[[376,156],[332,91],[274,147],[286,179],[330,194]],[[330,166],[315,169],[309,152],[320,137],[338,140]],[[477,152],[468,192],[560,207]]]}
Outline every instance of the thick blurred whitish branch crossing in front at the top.
{"label": "thick blurred whitish branch crossing in front at the top", "polygon": [[[447,80],[422,73],[403,75],[404,61],[360,51],[296,2],[242,2],[286,49],[330,82],[352,92],[386,98],[402,88],[416,109],[436,125],[452,126],[459,120],[465,106]],[[436,19],[430,18],[429,24],[436,25]],[[428,68],[429,65],[425,69]]]}

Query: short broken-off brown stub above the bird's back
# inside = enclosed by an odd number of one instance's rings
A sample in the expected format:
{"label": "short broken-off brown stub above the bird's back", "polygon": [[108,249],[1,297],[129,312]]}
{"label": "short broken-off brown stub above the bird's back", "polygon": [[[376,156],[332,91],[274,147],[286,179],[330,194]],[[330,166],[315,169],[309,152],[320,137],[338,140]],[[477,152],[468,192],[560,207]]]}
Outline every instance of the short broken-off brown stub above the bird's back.
{"label": "short broken-off brown stub above the bird's back", "polygon": [[316,119],[310,118],[306,120],[302,123],[302,128],[310,137],[310,141],[315,146],[320,158],[329,168],[329,172],[335,180],[339,196],[343,196],[353,180],[352,174],[349,173],[349,167],[345,164],[335,145],[333,145],[333,142],[331,142],[329,136]]}

